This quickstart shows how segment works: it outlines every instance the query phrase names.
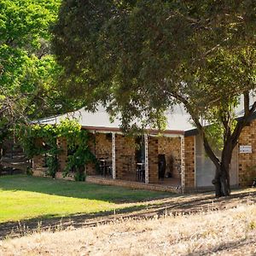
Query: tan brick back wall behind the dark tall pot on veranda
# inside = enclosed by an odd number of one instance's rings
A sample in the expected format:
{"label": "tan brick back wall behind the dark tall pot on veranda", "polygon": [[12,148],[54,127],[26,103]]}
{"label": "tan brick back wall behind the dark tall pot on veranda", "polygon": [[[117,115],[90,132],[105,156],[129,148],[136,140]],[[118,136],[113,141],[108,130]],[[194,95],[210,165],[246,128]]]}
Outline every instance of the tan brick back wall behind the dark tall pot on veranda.
{"label": "tan brick back wall behind the dark tall pot on veranda", "polygon": [[166,154],[166,172],[171,172],[172,177],[179,178],[181,165],[181,142],[179,137],[160,137],[158,139],[158,154]]}

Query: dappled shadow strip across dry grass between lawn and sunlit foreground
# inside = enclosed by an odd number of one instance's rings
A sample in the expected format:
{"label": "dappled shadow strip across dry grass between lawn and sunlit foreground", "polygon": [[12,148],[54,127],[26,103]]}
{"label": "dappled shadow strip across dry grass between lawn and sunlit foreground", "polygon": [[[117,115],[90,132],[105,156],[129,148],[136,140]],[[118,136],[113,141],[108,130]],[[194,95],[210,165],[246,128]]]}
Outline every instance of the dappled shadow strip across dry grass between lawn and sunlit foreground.
{"label": "dappled shadow strip across dry grass between lawn and sunlit foreground", "polygon": [[[24,236],[33,231],[65,230],[68,227],[92,227],[98,224],[107,224],[124,218],[155,218],[166,214],[188,215],[198,212],[211,212],[226,210],[236,207],[241,203],[256,203],[256,190],[250,192],[238,192],[230,197],[215,199],[211,194],[180,196],[174,200],[161,200],[153,204],[141,203],[137,206],[124,207],[111,211],[76,213],[65,217],[55,215],[43,215],[19,222],[7,222],[0,224],[0,240],[5,237]],[[188,238],[189,239],[189,238]],[[230,245],[231,247],[232,245]],[[190,254],[189,254],[190,255]],[[191,254],[193,255],[193,254]],[[196,254],[198,255],[198,254]]]}

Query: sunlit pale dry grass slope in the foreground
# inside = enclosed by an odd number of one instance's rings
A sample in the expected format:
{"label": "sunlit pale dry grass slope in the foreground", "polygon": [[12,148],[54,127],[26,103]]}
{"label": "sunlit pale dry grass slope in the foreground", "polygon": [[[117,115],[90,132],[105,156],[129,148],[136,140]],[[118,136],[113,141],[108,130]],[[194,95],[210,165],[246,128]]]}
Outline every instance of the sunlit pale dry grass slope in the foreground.
{"label": "sunlit pale dry grass slope in the foreground", "polygon": [[256,205],[0,241],[0,255],[256,255]]}

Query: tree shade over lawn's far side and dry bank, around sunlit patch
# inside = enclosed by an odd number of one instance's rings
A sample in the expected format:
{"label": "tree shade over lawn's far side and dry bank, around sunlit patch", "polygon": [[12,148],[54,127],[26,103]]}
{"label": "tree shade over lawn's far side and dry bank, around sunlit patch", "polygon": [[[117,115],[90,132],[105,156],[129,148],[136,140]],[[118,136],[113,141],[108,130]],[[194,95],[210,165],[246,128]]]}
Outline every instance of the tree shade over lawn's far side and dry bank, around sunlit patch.
{"label": "tree shade over lawn's far side and dry bank, around sunlit patch", "polygon": [[6,236],[20,236],[22,232],[27,234],[28,231],[38,230],[38,223],[42,230],[57,230],[60,224],[61,229],[66,229],[68,226],[78,228],[82,226],[96,226],[97,224],[108,223],[119,218],[155,218],[155,216],[161,216],[166,213],[185,215],[227,209],[236,207],[239,203],[247,203],[248,201],[256,203],[256,190],[247,193],[238,191],[236,194],[230,195],[230,197],[216,199],[212,193],[175,195],[92,183],[75,183],[45,177],[17,176],[6,179],[0,177],[0,189],[33,191],[49,195],[114,203],[137,203],[136,206],[124,206],[112,211],[75,213],[66,217],[45,214],[20,222],[6,222],[0,224],[0,239]]}

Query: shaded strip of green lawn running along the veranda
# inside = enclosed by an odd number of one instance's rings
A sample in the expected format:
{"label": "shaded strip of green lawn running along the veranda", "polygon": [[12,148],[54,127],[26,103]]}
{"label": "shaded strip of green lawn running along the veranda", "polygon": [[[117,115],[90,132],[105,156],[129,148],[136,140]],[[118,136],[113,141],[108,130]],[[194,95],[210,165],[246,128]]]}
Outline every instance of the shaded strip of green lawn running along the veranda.
{"label": "shaded strip of green lawn running along the veranda", "polygon": [[177,196],[167,192],[127,189],[117,186],[73,182],[49,177],[29,177],[25,175],[0,177],[0,189],[11,191],[23,190],[113,203],[151,201]]}

